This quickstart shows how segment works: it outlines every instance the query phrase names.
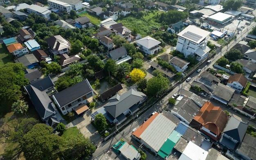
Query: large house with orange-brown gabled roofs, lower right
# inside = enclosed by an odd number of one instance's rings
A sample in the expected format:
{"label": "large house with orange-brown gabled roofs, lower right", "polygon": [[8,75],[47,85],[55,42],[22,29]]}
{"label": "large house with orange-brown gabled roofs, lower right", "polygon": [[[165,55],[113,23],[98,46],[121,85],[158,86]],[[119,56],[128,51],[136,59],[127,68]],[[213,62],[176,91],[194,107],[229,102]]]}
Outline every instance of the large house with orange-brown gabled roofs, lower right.
{"label": "large house with orange-brown gabled roofs, lower right", "polygon": [[211,102],[205,102],[189,125],[217,141],[228,119],[229,116],[220,107],[213,106]]}

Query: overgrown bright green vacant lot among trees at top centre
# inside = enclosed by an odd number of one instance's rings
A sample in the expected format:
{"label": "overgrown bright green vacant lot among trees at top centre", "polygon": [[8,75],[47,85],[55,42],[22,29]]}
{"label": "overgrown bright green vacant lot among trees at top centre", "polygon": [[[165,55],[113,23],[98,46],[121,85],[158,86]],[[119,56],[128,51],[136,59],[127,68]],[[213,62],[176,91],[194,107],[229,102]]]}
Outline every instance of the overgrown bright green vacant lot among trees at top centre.
{"label": "overgrown bright green vacant lot among trees at top centre", "polygon": [[129,15],[128,17],[117,20],[117,23],[121,22],[131,31],[136,27],[138,29],[138,33],[142,37],[146,37],[147,35],[152,35],[162,26],[159,22],[157,22],[159,13],[159,11],[148,11],[141,18],[138,16],[135,17],[133,15]]}

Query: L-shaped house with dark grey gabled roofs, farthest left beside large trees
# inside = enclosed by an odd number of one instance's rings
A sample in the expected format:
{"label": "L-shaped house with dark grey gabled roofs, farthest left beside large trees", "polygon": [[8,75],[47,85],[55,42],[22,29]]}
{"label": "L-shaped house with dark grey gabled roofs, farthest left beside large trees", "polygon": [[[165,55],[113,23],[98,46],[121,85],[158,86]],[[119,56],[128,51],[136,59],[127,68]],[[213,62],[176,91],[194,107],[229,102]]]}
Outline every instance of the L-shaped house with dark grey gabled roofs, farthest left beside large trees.
{"label": "L-shaped house with dark grey gabled roofs, farthest left beside large trees", "polygon": [[63,118],[58,113],[54,103],[47,94],[50,88],[54,88],[54,83],[50,77],[45,77],[44,79],[25,86],[29,99],[36,108],[41,120],[45,122],[46,125],[55,127]]}

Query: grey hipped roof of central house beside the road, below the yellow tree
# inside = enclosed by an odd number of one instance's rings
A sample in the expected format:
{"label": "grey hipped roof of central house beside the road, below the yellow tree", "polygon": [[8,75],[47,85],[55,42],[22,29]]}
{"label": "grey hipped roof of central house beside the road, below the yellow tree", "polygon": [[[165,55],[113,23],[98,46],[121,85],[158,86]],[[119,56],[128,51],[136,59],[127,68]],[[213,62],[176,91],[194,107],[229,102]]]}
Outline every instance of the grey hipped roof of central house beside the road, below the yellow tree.
{"label": "grey hipped roof of central house beside the road, below the yellow tree", "polygon": [[124,113],[124,111],[128,110],[130,107],[144,99],[144,96],[142,96],[140,92],[130,89],[122,94],[119,99],[115,99],[115,101],[111,101],[110,103],[106,104],[104,108],[114,118],[117,118],[119,115]]}

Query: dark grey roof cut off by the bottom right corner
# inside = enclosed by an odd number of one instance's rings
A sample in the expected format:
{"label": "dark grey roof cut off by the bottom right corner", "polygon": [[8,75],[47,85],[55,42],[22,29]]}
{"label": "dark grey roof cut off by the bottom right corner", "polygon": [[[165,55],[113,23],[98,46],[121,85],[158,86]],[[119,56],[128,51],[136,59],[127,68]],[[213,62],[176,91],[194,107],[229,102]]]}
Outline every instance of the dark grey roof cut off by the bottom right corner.
{"label": "dark grey roof cut off by the bottom right corner", "polygon": [[245,134],[243,142],[238,147],[237,151],[247,155],[252,160],[256,160],[255,148],[256,148],[256,138],[253,136],[250,136],[249,134]]}

